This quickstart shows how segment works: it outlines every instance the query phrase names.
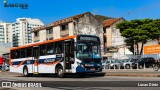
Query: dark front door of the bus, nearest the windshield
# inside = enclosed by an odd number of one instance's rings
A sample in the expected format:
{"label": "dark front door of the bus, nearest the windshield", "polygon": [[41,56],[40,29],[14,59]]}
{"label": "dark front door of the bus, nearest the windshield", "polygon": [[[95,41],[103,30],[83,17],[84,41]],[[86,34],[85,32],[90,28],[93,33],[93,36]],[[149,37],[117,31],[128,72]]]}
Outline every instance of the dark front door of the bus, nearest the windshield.
{"label": "dark front door of the bus, nearest the windshield", "polygon": [[71,71],[71,60],[74,58],[74,51],[73,48],[73,40],[65,41],[64,42],[64,59],[65,59],[65,72],[72,72]]}

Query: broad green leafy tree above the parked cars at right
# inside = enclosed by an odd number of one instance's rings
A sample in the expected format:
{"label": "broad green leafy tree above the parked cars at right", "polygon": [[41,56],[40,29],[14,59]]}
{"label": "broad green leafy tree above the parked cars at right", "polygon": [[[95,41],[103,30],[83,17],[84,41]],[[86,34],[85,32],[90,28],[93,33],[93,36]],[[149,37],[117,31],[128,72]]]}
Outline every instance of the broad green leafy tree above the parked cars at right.
{"label": "broad green leafy tree above the parked cars at right", "polygon": [[[142,54],[143,45],[150,39],[160,40],[160,19],[142,19],[124,21],[117,24],[117,28],[120,29],[120,33],[126,38],[125,42],[127,46],[130,46],[130,50],[134,52],[133,45],[137,46],[137,54]],[[141,50],[139,52],[138,43],[142,43]]]}

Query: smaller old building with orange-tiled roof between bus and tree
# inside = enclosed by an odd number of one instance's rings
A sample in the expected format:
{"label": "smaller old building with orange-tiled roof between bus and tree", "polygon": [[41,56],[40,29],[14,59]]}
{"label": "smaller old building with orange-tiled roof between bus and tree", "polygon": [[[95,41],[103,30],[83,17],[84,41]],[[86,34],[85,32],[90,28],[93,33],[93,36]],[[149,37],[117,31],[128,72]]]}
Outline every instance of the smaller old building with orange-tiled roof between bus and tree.
{"label": "smaller old building with orange-tiled roof between bus and tree", "polygon": [[120,30],[116,28],[116,24],[123,21],[123,18],[115,18],[103,22],[104,56],[124,59],[132,55],[125,45],[125,38],[121,36]]}

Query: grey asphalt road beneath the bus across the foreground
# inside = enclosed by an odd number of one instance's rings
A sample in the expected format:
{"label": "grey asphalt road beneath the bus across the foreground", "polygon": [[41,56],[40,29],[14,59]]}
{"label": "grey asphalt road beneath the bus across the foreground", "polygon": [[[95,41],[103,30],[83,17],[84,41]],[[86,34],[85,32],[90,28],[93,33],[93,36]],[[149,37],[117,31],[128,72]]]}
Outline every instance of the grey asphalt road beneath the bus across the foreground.
{"label": "grey asphalt road beneath the bus across the foreground", "polygon": [[0,88],[0,90],[160,90],[159,77],[117,77],[103,75],[87,75],[84,78],[79,78],[76,75],[68,75],[67,78],[58,78],[56,75],[23,77],[22,74],[1,72],[0,81],[41,83],[42,86],[38,88]]}

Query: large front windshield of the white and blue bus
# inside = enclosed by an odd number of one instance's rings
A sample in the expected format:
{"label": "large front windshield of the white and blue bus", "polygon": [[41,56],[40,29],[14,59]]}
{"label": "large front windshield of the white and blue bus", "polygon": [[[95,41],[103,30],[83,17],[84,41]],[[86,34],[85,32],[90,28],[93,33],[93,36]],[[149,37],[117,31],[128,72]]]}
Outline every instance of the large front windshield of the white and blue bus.
{"label": "large front windshield of the white and blue bus", "polygon": [[77,58],[100,58],[100,44],[79,42],[76,51]]}

